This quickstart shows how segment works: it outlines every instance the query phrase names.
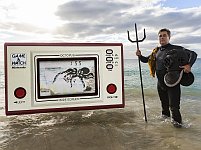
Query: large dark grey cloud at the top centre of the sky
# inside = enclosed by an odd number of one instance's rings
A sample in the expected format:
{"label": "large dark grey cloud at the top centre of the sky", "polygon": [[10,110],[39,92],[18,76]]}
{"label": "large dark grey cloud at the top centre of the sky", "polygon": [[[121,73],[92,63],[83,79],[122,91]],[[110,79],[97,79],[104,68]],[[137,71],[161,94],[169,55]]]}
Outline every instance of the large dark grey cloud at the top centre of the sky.
{"label": "large dark grey cloud at the top centre of the sky", "polygon": [[68,21],[99,21],[106,17],[118,14],[121,10],[130,8],[131,5],[125,3],[115,3],[110,1],[71,1],[58,7],[55,13],[63,20]]}

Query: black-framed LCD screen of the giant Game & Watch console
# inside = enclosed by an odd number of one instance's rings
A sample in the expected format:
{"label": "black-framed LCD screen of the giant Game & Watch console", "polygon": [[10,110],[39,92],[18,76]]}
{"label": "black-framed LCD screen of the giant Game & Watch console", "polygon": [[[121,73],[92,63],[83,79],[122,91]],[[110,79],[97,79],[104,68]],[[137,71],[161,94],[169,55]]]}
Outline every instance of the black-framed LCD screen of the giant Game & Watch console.
{"label": "black-framed LCD screen of the giant Game & Watch console", "polygon": [[98,94],[97,58],[37,58],[38,99]]}

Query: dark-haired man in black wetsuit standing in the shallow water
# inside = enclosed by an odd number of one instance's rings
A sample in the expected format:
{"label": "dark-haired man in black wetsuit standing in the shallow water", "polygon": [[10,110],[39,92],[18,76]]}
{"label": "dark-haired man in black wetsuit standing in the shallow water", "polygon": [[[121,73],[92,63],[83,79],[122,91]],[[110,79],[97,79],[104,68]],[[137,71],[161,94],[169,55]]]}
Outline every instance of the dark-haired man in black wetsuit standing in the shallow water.
{"label": "dark-haired man in black wetsuit standing in the shallow water", "polygon": [[[150,66],[150,73],[154,77],[155,73],[158,79],[157,90],[162,106],[162,117],[170,117],[170,110],[172,114],[172,123],[175,127],[182,127],[182,117],[180,114],[180,98],[181,89],[180,83],[169,87],[164,82],[164,76],[168,73],[166,64],[167,54],[171,50],[182,49],[188,56],[187,63],[185,65],[179,66],[183,69],[183,72],[190,73],[191,67],[194,64],[197,54],[193,51],[187,50],[181,46],[172,45],[169,43],[171,32],[170,30],[164,28],[158,32],[160,47],[156,47],[151,55],[148,57],[142,56],[141,51],[138,49],[136,55],[139,56],[140,61],[148,63]],[[170,62],[170,61],[169,61]],[[172,62],[174,65],[174,62]]]}

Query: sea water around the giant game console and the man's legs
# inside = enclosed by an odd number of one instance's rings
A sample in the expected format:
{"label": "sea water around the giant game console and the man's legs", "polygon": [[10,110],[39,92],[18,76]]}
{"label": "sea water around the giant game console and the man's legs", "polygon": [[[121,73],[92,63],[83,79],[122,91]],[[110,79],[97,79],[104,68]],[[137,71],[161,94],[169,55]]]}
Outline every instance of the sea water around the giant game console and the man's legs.
{"label": "sea water around the giant game console and the man's legs", "polygon": [[[0,150],[200,150],[201,59],[195,81],[182,87],[182,128],[161,118],[156,78],[141,63],[147,122],[138,60],[124,60],[125,108],[5,115],[4,65],[0,63]],[[16,77],[13,77],[16,78]]]}

